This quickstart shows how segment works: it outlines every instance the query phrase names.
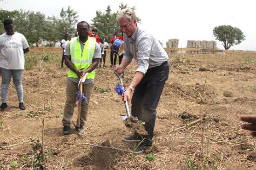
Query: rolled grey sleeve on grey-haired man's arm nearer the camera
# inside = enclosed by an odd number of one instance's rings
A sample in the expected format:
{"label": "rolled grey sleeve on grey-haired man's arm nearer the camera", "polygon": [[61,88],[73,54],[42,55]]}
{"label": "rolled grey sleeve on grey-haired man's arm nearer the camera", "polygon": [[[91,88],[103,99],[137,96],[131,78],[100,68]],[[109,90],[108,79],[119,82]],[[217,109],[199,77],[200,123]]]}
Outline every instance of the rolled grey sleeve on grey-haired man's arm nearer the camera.
{"label": "rolled grey sleeve on grey-haired man's arm nearer the camera", "polygon": [[148,70],[149,55],[151,51],[152,40],[149,36],[141,38],[138,42],[138,52],[137,52],[137,63],[138,67],[136,71],[146,74]]}

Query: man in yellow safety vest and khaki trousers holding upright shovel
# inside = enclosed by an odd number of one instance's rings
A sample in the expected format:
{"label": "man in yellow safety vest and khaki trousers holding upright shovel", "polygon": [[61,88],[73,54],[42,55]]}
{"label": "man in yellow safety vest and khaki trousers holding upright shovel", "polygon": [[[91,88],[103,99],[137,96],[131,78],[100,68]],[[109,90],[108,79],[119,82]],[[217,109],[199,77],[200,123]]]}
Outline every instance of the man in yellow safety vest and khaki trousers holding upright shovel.
{"label": "man in yellow safety vest and khaki trousers holding upright shovel", "polygon": [[82,82],[83,93],[87,100],[81,103],[80,130],[84,130],[84,124],[87,120],[87,113],[91,93],[94,87],[95,69],[101,59],[101,47],[94,38],[88,37],[89,24],[81,21],[77,24],[79,37],[74,37],[67,43],[64,58],[67,65],[67,88],[66,103],[63,113],[63,134],[70,133],[70,120],[74,113],[76,92],[78,91],[78,82],[80,78],[89,73],[85,82]]}

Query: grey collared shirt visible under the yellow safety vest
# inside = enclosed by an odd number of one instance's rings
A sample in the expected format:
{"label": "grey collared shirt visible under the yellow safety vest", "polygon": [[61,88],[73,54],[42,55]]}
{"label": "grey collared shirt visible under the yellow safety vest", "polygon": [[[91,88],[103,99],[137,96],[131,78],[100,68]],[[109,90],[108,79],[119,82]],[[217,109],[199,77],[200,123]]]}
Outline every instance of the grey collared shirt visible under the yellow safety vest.
{"label": "grey collared shirt visible under the yellow safety vest", "polygon": [[[83,51],[84,49],[84,45],[85,45],[85,42],[81,42],[81,40],[78,38],[78,41],[80,43],[80,46],[81,46],[81,51]],[[88,40],[87,40],[88,41]],[[83,52],[82,52],[83,53]],[[65,52],[64,52],[64,55],[66,56],[70,56],[70,41],[67,42],[67,46],[65,48]],[[95,50],[94,50],[94,56],[93,58],[101,58],[101,47],[100,47],[100,44],[98,44],[96,41],[95,41]],[[78,78],[74,78],[74,77],[67,77],[68,79],[70,79],[72,82],[76,82],[78,83],[79,82],[79,79]],[[86,79],[83,84],[89,84],[91,82],[94,82],[94,79]]]}

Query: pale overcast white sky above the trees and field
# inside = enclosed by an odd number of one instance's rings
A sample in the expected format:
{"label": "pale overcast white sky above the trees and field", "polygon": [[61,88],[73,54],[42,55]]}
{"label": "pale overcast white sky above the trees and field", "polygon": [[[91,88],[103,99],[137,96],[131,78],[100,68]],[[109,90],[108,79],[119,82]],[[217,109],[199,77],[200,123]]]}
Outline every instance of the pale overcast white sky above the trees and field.
{"label": "pale overcast white sky above the trees and field", "polygon": [[[141,25],[152,33],[163,46],[168,39],[179,39],[179,48],[186,48],[187,40],[222,42],[213,36],[219,25],[231,25],[246,36],[241,44],[230,50],[256,50],[256,1],[255,0],[0,0],[0,8],[8,11],[25,10],[60,17],[61,8],[68,6],[78,12],[78,20],[92,23],[96,11],[105,12],[110,5],[112,12],[119,5],[135,6]],[[15,24],[15,23],[14,23]]]}

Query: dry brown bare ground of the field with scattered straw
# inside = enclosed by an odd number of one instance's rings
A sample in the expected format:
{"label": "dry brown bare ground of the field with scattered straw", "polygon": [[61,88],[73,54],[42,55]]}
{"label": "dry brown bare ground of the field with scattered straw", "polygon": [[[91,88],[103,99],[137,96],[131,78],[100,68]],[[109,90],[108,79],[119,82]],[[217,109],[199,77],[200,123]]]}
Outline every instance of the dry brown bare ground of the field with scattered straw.
{"label": "dry brown bare ground of the field with scattered straw", "polygon": [[[61,57],[61,52],[55,54]],[[126,70],[125,85],[135,65]],[[71,134],[62,135],[66,68],[44,62],[40,75],[40,63],[24,72],[25,111],[18,109],[11,83],[9,107],[0,112],[0,170],[32,169],[32,139],[41,141],[43,119],[45,152],[52,152],[48,170],[186,170],[189,159],[201,166],[205,160],[206,169],[214,164],[218,170],[256,169],[256,140],[240,128],[239,121],[243,114],[256,114],[256,52],[170,55],[154,146],[139,155],[130,152],[136,144],[121,140],[128,134],[119,118],[125,107],[115,93],[118,79],[107,66],[97,69],[86,131],[81,134],[71,126]],[[148,153],[155,155],[155,161],[145,159]]]}

